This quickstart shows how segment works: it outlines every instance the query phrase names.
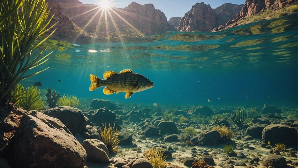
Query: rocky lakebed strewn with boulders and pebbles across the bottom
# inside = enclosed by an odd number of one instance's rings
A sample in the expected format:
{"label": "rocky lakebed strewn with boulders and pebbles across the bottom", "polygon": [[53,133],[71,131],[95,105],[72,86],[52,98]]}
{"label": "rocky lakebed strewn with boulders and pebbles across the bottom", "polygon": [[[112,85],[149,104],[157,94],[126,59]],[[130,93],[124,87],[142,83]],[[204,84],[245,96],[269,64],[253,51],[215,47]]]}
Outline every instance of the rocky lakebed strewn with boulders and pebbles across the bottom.
{"label": "rocky lakebed strewn with boulders and pebbles across the bottom", "polygon": [[[237,108],[102,99],[84,109],[60,106],[41,112],[0,106],[0,167],[154,168],[144,157],[149,149],[162,154],[167,168],[298,167],[297,109],[241,107],[247,118],[241,126],[231,119]],[[109,123],[120,130],[113,152],[100,134]]]}

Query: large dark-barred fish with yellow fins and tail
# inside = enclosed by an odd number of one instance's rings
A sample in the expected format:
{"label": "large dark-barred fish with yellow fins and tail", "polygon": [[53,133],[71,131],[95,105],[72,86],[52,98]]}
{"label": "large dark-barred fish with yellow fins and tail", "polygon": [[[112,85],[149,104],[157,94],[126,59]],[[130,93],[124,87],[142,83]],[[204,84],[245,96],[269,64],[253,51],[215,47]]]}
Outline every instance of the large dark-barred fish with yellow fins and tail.
{"label": "large dark-barred fish with yellow fins and tail", "polygon": [[133,73],[130,69],[124,69],[119,73],[106,71],[103,74],[103,78],[104,79],[100,79],[90,74],[91,85],[89,90],[92,91],[105,86],[105,88],[103,88],[105,95],[125,92],[125,98],[130,98],[135,92],[141,92],[154,86],[153,82],[148,78],[141,74]]}

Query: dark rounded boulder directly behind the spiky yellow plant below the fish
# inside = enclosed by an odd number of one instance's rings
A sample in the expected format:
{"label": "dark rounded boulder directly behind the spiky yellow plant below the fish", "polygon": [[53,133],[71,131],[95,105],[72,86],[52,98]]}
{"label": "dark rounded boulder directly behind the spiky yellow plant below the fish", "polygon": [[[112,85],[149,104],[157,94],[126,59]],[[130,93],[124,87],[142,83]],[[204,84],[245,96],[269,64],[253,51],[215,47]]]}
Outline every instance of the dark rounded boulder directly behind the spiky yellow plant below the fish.
{"label": "dark rounded boulder directly behind the spiky yellow plant below the fish", "polygon": [[109,123],[111,123],[111,126],[113,126],[115,123],[115,127],[120,129],[120,126],[116,122],[116,114],[107,108],[97,109],[88,117],[90,117],[89,119],[92,123],[96,123],[100,127],[103,125],[107,125],[108,127]]}

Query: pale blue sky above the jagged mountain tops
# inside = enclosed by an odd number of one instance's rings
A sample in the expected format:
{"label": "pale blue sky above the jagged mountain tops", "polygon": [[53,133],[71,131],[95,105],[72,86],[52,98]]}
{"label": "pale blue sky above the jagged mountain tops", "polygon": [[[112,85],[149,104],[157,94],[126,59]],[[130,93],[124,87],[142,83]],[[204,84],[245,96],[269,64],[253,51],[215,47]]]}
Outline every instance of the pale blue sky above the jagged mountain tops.
{"label": "pale blue sky above the jagged mountain tops", "polygon": [[[98,0],[79,1],[84,4],[98,4]],[[184,16],[184,14],[188,12],[196,2],[202,2],[196,0],[113,0],[112,3],[114,7],[124,8],[132,1],[135,1],[138,4],[153,4],[155,9],[159,9],[164,12],[167,20],[174,16]],[[210,4],[212,8],[216,8],[227,2],[232,4],[244,4],[245,0],[206,0],[203,2],[205,4]]]}

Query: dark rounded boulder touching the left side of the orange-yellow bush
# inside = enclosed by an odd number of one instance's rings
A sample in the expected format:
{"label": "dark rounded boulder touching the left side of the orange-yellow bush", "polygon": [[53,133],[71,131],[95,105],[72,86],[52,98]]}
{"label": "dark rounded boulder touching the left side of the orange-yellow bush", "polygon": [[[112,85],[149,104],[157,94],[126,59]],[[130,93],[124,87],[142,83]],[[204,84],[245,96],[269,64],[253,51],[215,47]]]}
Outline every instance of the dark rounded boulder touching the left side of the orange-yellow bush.
{"label": "dark rounded boulder touching the left side of the orange-yellow bush", "polygon": [[199,145],[216,145],[221,140],[221,134],[214,130],[204,130],[199,134],[198,144]]}

